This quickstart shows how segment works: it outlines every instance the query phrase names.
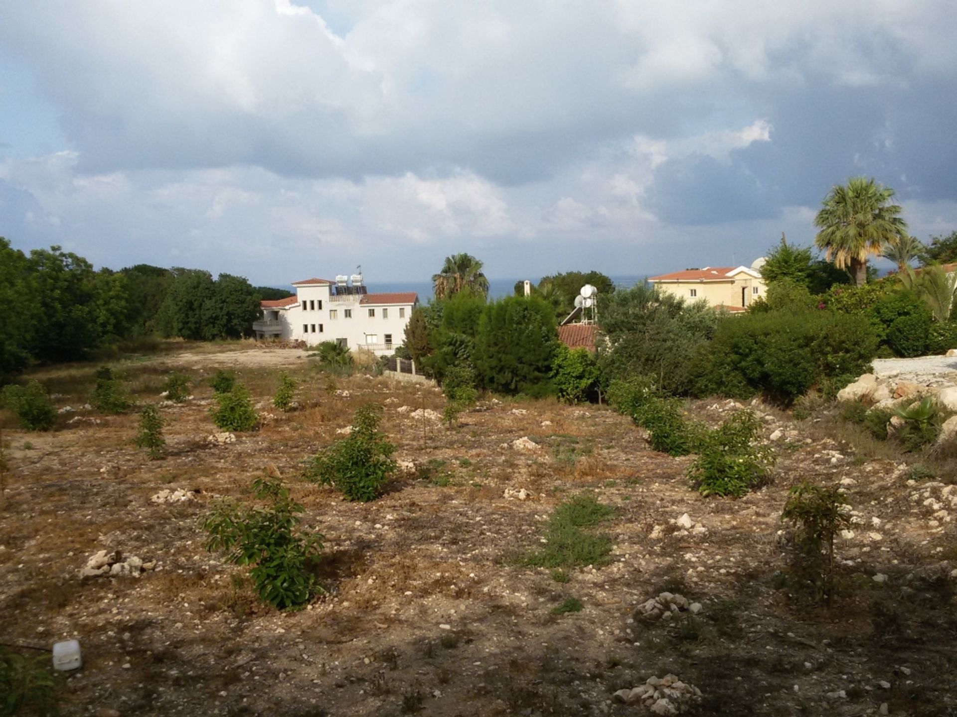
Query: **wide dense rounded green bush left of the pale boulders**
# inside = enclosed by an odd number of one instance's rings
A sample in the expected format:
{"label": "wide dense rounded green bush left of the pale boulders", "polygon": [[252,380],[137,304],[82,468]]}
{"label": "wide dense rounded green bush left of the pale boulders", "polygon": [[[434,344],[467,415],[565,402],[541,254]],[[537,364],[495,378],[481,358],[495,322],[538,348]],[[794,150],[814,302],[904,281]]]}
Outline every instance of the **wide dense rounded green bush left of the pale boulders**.
{"label": "wide dense rounded green bush left of the pale boulders", "polygon": [[749,398],[763,392],[785,404],[828,378],[865,373],[877,337],[859,315],[770,312],[723,320],[701,362],[699,395]]}

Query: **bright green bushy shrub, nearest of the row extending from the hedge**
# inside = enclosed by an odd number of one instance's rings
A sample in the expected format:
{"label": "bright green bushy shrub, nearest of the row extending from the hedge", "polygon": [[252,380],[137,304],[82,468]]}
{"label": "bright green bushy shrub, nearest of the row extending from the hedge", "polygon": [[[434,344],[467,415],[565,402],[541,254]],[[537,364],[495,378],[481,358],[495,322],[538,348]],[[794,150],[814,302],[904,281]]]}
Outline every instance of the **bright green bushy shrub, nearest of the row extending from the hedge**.
{"label": "bright green bushy shrub, nearest of the row extending from the hedge", "polygon": [[760,429],[752,412],[740,411],[701,435],[699,456],[687,471],[701,495],[740,498],[768,483],[775,456],[767,445],[754,445]]}

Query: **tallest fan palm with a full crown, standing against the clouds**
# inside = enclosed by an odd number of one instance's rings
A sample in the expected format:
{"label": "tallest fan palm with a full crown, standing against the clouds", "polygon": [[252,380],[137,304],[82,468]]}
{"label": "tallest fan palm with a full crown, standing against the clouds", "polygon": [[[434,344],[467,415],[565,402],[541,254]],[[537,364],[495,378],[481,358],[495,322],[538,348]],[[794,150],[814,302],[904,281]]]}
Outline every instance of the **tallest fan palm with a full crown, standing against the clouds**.
{"label": "tallest fan palm with a full crown, standing against the clouds", "polygon": [[890,204],[893,196],[893,189],[873,178],[852,177],[847,186],[831,187],[814,217],[820,228],[814,244],[837,269],[850,272],[857,286],[867,279],[867,257],[907,236],[907,225],[898,216],[901,206]]}

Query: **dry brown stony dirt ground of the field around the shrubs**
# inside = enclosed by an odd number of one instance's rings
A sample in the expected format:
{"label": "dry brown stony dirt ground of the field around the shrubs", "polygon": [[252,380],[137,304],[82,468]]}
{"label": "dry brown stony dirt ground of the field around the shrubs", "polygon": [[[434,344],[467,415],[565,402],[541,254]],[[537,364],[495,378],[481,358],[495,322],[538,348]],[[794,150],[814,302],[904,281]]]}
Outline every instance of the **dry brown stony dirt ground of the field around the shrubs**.
{"label": "dry brown stony dirt ground of the field around the shrubs", "polygon": [[[2,418],[12,471],[0,511],[0,634],[80,641],[65,714],[640,715],[650,712],[612,694],[666,673],[701,689],[687,714],[851,717],[882,705],[957,714],[955,489],[908,482],[908,468],[879,450],[855,452],[834,419],[795,423],[757,406],[766,436],[784,432],[773,484],[741,500],[703,499],[682,474],[691,459],[651,451],[604,407],[489,401],[448,430],[398,410],[440,411],[434,389],[288,360],[301,366],[300,409],[268,403],[277,364],[242,364],[264,424],[228,445],[207,441],[211,389],[200,381],[224,365],[216,354],[122,363],[141,402],[159,400],[171,368],[197,380],[193,399],[161,409],[160,461],[132,445],[135,413],[65,413],[48,434]],[[77,407],[94,368],[39,378]],[[386,406],[397,458],[434,463],[430,479],[405,475],[380,500],[353,504],[300,470],[367,401]],[[715,405],[693,408],[716,423],[731,409]],[[541,447],[502,447],[523,436]],[[264,470],[283,476],[305,524],[325,536],[328,592],[299,612],[258,603],[243,569],[207,553],[199,528],[216,496],[249,500]],[[842,482],[855,510],[830,609],[785,585],[780,513],[802,479]],[[152,503],[161,489],[196,499]],[[612,537],[608,564],[569,571],[567,583],[516,567],[516,553],[541,546],[553,508],[581,491],[614,509],[598,529]],[[681,530],[685,512],[706,530]],[[103,549],[155,569],[80,579]],[[698,619],[634,619],[664,589],[701,602]],[[553,614],[568,597],[584,609]]]}

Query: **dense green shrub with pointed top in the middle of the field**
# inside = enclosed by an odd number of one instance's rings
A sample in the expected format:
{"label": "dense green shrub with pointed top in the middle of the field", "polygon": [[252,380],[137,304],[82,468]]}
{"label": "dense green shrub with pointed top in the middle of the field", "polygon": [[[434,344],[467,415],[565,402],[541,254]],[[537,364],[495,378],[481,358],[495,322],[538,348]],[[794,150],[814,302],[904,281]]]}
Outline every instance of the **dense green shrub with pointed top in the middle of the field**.
{"label": "dense green shrub with pointed top in the middle of the field", "polygon": [[348,500],[366,503],[386,489],[395,472],[395,446],[379,432],[382,406],[367,403],[352,417],[352,431],[312,459],[304,477],[342,490]]}

